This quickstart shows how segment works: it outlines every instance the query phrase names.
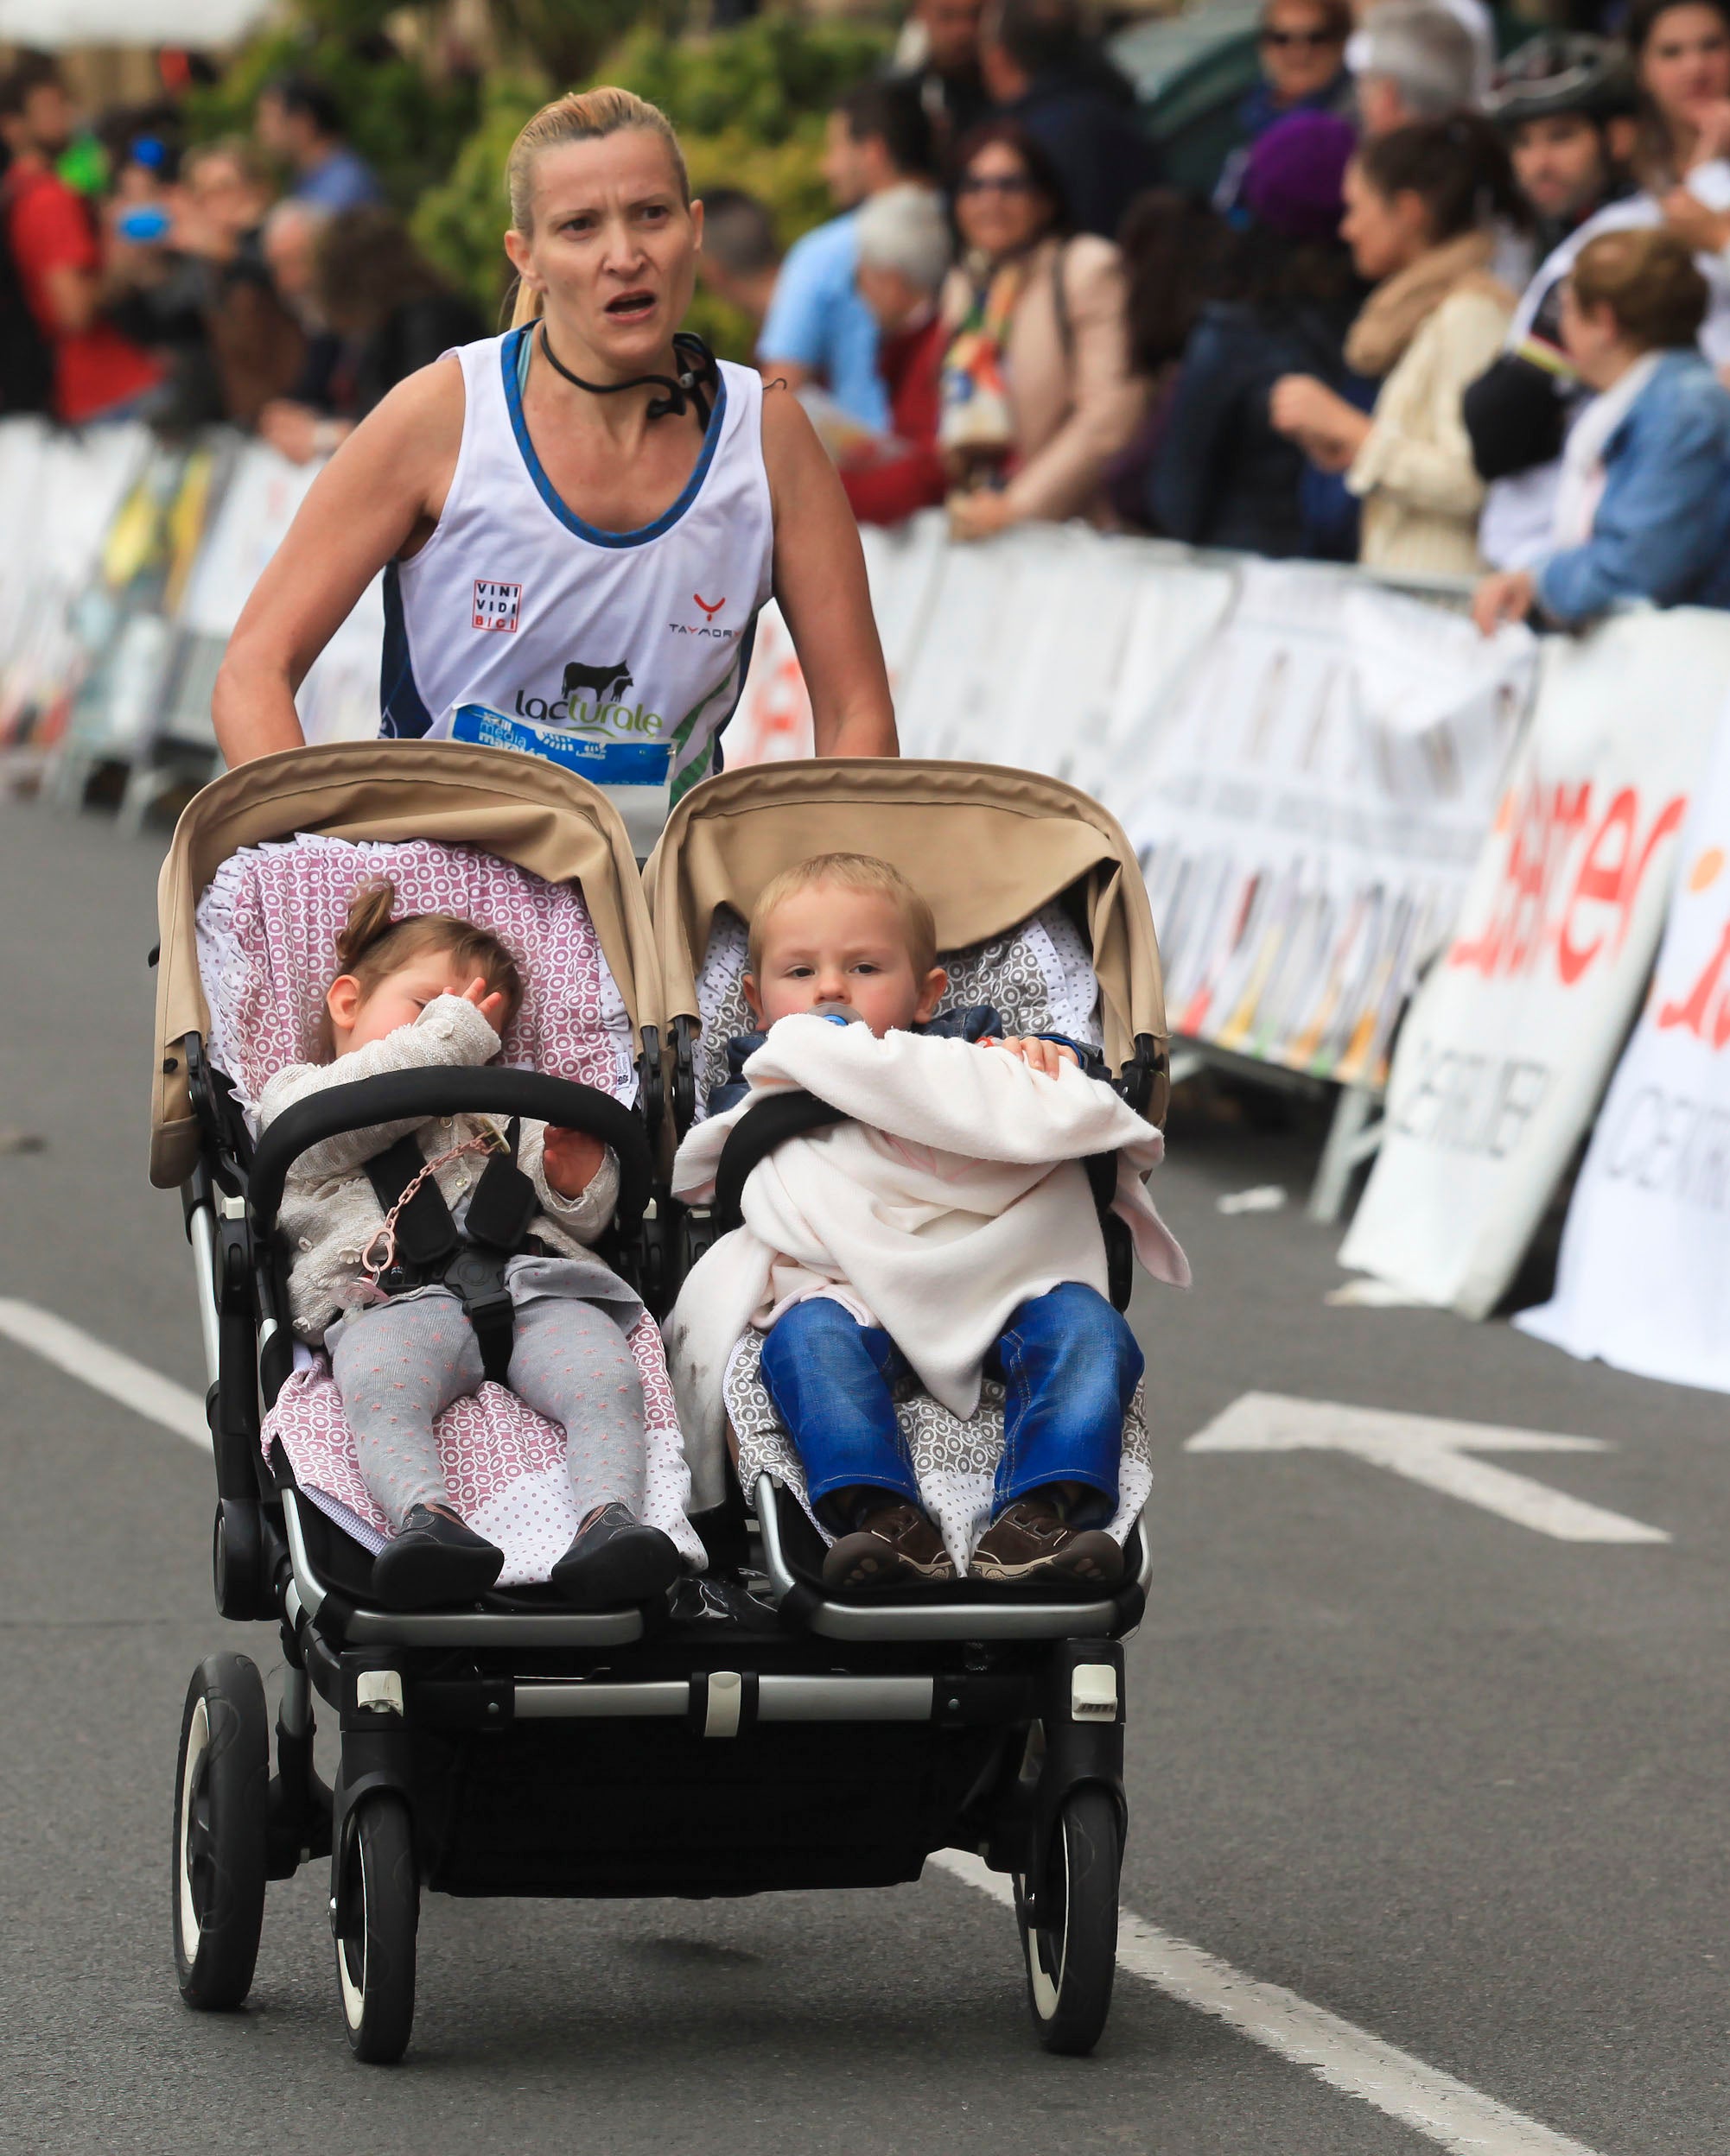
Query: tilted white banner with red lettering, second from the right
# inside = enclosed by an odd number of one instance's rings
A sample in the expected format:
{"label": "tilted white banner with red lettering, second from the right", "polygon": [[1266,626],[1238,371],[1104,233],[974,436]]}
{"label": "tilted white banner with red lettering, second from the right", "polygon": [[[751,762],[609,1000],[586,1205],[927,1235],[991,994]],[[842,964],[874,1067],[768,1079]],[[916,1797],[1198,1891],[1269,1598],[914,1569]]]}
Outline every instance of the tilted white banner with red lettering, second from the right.
{"label": "tilted white banner with red lettering, second from the right", "polygon": [[1467,1317],[1495,1309],[1646,987],[1726,690],[1730,614],[1544,640],[1532,731],[1400,1033],[1342,1266]]}

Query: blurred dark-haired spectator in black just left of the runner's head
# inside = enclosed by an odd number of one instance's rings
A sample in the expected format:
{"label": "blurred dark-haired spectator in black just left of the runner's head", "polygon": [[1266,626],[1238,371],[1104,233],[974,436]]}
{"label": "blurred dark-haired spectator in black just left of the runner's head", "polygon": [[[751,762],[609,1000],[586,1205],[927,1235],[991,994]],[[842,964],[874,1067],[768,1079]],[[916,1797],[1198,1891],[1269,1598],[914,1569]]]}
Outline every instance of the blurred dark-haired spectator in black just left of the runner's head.
{"label": "blurred dark-haired spectator in black just left of the runner's head", "polygon": [[259,433],[296,464],[328,455],[416,369],[488,334],[475,302],[444,282],[395,209],[330,218],[317,237],[313,298],[343,338],[332,382],[337,416],[280,401],[259,418]]}

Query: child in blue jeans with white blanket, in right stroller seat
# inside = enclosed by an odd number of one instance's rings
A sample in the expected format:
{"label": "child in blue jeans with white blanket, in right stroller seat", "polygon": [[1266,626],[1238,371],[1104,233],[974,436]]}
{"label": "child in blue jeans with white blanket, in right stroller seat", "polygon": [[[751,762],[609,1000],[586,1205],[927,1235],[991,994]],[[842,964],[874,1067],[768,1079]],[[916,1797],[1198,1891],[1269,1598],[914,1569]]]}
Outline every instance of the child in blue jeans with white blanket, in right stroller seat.
{"label": "child in blue jeans with white blanket, in right stroller seat", "polygon": [[[1005,1384],[1005,1442],[973,1576],[1109,1591],[1122,1550],[1104,1522],[1117,1507],[1124,1412],[1143,1356],[1096,1279],[1102,1259],[1079,1162],[1124,1149],[1135,1158],[1137,1147],[1150,1162],[1158,1134],[1083,1074],[1072,1041],[1003,1039],[988,1009],[934,1020],[945,990],[932,910],[889,862],[826,854],[768,884],[751,921],[744,994],[770,1033],[729,1044],[742,1084],[720,1089],[710,1104],[718,1112],[684,1141],[673,1192],[712,1188],[731,1125],[777,1080],[802,1082],[800,1065],[805,1076],[818,1067],[822,1100],[850,1097],[850,1121],[796,1141],[833,1156],[815,1164],[805,1153],[805,1179],[787,1153],[759,1164],[740,1231],[761,1253],[757,1272],[738,1235],[723,1238],[692,1270],[669,1341],[677,1356],[710,1317],[727,1322],[723,1276],[744,1261],[749,1319],[766,1335],[764,1384],[815,1518],[835,1537],[828,1589],[953,1578],[919,1505],[895,1388],[917,1376],[940,1397],[947,1378],[945,1404],[969,1414],[979,1376],[992,1373]],[[848,1041],[813,1028],[822,1020]],[[975,1063],[977,1050],[992,1069]],[[953,1130],[956,1100],[943,1128],[945,1093],[984,1115],[977,1147]],[[859,1186],[861,1205],[837,1177]],[[1124,1212],[1143,1257],[1182,1276],[1182,1253],[1135,1175],[1128,1190]]]}

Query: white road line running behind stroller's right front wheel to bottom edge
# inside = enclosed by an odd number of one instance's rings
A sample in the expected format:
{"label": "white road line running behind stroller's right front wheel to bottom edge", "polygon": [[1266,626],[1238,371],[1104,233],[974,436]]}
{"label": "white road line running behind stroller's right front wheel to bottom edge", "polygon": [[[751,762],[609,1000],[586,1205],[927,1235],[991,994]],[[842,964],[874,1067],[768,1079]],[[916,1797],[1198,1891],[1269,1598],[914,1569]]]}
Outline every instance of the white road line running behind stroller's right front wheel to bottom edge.
{"label": "white road line running behind stroller's right front wheel to bottom edge", "polygon": [[[938,1850],[932,1863],[988,1893],[992,1902],[1014,1908],[1010,1880],[1001,1871],[986,1871],[966,1850]],[[1413,2059],[1409,2050],[1383,2044],[1368,2029],[1299,1999],[1283,1984],[1247,1977],[1128,1908],[1117,1917],[1117,1966],[1197,2014],[1212,2014],[1251,2044],[1264,2044],[1292,2065],[1307,2068],[1331,2089],[1374,2104],[1454,2156],[1594,2156],[1583,2141],[1570,2141],[1523,2111],[1510,2111],[1441,2068]]]}

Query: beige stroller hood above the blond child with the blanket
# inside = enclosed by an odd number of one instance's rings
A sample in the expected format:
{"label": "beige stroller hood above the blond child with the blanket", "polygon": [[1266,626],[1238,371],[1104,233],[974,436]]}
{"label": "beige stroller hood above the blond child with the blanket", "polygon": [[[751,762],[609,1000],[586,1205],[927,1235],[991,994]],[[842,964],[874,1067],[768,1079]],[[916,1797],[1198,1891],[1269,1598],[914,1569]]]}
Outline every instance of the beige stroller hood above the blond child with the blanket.
{"label": "beige stroller hood above the blond child with the blanket", "polygon": [[[876,854],[930,899],[960,951],[1068,897],[1100,983],[1113,1072],[1139,1037],[1167,1048],[1154,916],[1117,819],[1079,787],[992,763],[826,757],[705,778],[673,811],[643,871],[669,1020],[697,1022],[697,968],[718,906],[751,918],[781,869],[813,854]],[[1165,1080],[1148,1112],[1165,1115]]]}

